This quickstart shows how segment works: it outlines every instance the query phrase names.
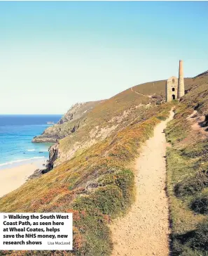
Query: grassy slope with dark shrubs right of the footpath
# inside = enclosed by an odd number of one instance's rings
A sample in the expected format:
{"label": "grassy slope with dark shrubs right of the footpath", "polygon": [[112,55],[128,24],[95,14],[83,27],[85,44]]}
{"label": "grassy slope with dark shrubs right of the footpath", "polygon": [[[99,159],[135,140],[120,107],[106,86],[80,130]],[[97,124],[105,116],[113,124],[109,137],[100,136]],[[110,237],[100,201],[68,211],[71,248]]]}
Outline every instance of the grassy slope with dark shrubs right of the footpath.
{"label": "grassy slope with dark shrubs right of the footpath", "polygon": [[193,79],[166,129],[173,255],[208,251],[208,73]]}

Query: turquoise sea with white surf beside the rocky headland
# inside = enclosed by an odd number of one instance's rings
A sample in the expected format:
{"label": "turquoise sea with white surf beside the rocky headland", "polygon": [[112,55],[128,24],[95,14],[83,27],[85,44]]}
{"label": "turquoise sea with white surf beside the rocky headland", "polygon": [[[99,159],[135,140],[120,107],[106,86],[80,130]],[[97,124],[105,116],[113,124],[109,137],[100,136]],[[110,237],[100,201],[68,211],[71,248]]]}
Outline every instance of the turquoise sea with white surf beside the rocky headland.
{"label": "turquoise sea with white surf beside the rocky headland", "polygon": [[0,169],[33,159],[48,159],[50,143],[32,143],[61,115],[0,115]]}

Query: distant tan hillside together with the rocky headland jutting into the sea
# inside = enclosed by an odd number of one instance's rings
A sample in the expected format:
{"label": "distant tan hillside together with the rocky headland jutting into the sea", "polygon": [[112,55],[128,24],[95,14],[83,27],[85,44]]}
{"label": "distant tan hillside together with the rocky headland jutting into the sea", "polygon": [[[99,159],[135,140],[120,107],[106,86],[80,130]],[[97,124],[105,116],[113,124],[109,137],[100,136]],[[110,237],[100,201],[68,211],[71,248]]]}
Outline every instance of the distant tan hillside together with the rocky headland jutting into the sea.
{"label": "distant tan hillside together with the rocky headland jutting into the sea", "polygon": [[[150,95],[153,98],[148,98]],[[128,125],[148,120],[153,113],[156,115],[159,108],[155,104],[158,104],[158,98],[164,100],[164,97],[165,80],[140,84],[133,87],[133,91],[127,89],[105,101],[91,102],[86,113],[85,105],[78,108],[75,119],[73,115],[70,122],[49,127],[42,136],[38,136],[38,139],[60,139],[59,149],[64,155],[56,161],[60,164],[62,159],[69,158],[69,155],[74,156],[74,152],[82,153],[92,144],[110,135],[116,135]],[[162,120],[162,115],[159,118]]]}

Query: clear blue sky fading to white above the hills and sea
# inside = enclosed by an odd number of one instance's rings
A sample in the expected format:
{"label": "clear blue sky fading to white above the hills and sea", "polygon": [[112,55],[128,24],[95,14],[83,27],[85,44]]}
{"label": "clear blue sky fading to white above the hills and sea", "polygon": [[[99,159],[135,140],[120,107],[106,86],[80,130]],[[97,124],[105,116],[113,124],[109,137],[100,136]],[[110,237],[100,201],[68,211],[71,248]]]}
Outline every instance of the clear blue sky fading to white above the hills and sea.
{"label": "clear blue sky fading to white above the hills and sea", "polygon": [[208,68],[206,1],[0,1],[0,113],[65,113]]}

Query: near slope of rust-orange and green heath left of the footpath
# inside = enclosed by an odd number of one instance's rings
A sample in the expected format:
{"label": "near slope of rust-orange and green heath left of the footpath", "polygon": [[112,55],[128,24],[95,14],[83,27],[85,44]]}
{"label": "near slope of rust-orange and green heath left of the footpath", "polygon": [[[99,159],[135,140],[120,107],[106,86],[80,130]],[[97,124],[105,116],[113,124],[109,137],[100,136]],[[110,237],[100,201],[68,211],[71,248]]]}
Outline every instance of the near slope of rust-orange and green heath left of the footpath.
{"label": "near slope of rust-orange and green heath left of the footpath", "polygon": [[42,177],[28,181],[0,199],[1,212],[73,212],[74,251],[67,255],[110,255],[108,224],[125,214],[134,201],[132,166],[138,148],[160,122],[155,114],[164,119],[171,106],[172,103],[153,105],[146,110],[146,120],[130,121],[116,134],[78,151],[74,158]]}

